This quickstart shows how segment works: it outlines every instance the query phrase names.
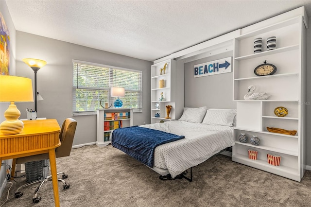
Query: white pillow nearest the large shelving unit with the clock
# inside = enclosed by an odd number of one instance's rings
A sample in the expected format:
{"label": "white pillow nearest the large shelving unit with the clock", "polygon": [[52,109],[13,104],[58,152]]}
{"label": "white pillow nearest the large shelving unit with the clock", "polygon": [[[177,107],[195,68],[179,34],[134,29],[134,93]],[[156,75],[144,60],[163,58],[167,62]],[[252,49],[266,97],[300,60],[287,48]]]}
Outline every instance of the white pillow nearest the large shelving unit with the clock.
{"label": "white pillow nearest the large shelving unit with the clock", "polygon": [[207,109],[202,123],[209,125],[234,126],[236,109]]}

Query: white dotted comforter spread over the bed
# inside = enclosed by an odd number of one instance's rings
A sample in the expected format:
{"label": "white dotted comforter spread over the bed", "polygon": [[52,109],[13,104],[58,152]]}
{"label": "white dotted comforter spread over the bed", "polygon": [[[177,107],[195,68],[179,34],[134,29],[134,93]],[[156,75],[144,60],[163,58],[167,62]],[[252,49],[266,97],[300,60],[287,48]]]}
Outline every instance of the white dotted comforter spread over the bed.
{"label": "white dotted comforter spread over the bed", "polygon": [[167,169],[172,177],[234,145],[233,127],[229,126],[166,121],[164,123],[140,125],[140,127],[185,136],[184,139],[155,148],[154,166]]}

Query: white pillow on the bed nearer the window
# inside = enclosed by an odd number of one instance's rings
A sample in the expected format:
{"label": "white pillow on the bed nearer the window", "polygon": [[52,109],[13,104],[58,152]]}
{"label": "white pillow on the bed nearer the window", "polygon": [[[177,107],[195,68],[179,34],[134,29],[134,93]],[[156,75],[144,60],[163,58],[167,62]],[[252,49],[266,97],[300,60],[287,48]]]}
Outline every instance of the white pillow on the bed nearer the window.
{"label": "white pillow on the bed nearer the window", "polygon": [[184,113],[179,121],[188,121],[193,123],[202,123],[206,113],[206,106],[200,108],[184,108]]}

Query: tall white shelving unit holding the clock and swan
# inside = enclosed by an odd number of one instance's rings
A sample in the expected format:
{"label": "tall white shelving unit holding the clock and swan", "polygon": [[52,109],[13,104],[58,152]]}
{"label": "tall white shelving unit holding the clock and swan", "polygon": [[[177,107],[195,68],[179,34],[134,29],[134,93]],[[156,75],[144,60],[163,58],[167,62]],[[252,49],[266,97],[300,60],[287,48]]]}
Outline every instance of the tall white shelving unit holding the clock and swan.
{"label": "tall white shelving unit holding the clock and swan", "polygon": [[[234,40],[233,99],[237,102],[237,127],[232,160],[263,171],[300,181],[305,172],[305,25],[303,16],[274,23]],[[276,49],[266,50],[266,39],[276,36]],[[262,52],[253,53],[254,39],[262,37]],[[274,75],[256,76],[254,69],[264,61],[274,64]],[[267,92],[268,100],[244,100],[248,86]],[[288,109],[286,117],[277,117],[278,106]],[[267,127],[296,130],[295,136],[271,133]],[[247,143],[238,137],[245,133]],[[252,135],[260,138],[258,146],[250,143]],[[258,151],[257,160],[248,158],[248,149]],[[267,154],[281,156],[279,166],[270,165]]]}

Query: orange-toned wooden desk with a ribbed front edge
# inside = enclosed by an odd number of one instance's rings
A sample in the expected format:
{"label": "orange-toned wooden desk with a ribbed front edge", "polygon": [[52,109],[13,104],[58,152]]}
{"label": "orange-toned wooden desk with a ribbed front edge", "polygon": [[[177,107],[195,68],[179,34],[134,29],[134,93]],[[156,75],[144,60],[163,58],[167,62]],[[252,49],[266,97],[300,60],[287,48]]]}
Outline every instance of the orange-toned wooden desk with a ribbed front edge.
{"label": "orange-toned wooden desk with a ribbed front edge", "polygon": [[55,148],[61,145],[60,127],[56,120],[23,122],[24,129],[17,135],[0,133],[0,162],[5,159],[49,153],[55,207],[59,207]]}

